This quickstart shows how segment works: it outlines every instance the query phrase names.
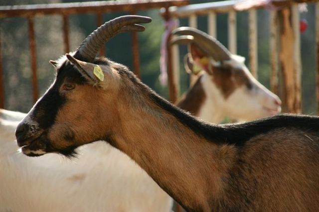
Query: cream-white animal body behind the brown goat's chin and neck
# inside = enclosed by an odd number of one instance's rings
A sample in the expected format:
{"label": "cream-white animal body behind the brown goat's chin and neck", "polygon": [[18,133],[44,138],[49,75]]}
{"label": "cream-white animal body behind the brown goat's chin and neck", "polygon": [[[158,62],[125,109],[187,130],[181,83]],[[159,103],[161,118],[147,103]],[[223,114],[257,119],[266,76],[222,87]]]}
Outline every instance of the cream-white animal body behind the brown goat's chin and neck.
{"label": "cream-white animal body behind the brown goat's chin and neck", "polygon": [[0,109],[0,212],[169,212],[172,199],[127,155],[98,141],[78,159],[17,152],[25,116]]}

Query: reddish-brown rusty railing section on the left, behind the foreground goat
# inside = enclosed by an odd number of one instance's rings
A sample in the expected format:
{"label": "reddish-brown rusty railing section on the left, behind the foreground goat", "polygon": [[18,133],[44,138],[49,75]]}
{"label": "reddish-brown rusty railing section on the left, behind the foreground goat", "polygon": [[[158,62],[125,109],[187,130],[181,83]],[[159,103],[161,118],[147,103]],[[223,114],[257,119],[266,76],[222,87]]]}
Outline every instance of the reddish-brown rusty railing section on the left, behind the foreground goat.
{"label": "reddish-brown rusty railing section on the left, behind the foreground goat", "polygon": [[[32,96],[33,102],[38,99],[39,88],[37,82],[37,58],[36,40],[34,36],[34,17],[38,15],[58,14],[63,17],[63,41],[64,51],[70,51],[69,43],[69,15],[93,13],[97,16],[97,26],[102,24],[102,15],[107,12],[125,11],[136,14],[138,11],[152,8],[168,9],[170,6],[182,6],[189,3],[189,0],[109,0],[74,3],[51,3],[51,4],[29,4],[0,6],[0,19],[9,17],[24,17],[28,21],[29,51],[32,70]],[[169,17],[166,17],[167,19]],[[140,58],[137,32],[132,32],[133,70],[140,76]],[[1,37],[0,37],[1,38]],[[102,48],[100,55],[105,54]],[[0,40],[0,108],[4,107],[4,86],[1,60],[1,40]]]}

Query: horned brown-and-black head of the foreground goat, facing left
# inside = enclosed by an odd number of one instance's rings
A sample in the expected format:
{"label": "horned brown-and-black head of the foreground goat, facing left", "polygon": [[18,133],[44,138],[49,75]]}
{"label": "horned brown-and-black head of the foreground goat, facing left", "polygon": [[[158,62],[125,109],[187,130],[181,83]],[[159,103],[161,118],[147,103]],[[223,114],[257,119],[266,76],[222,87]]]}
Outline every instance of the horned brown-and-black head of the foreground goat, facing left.
{"label": "horned brown-and-black head of the foreground goat, facing left", "polygon": [[119,72],[127,67],[96,55],[113,36],[144,31],[145,27],[138,23],[151,20],[137,15],[110,20],[92,32],[75,52],[50,61],[56,69],[56,78],[15,131],[22,153],[40,156],[56,152],[73,156],[80,145],[111,140],[112,127],[119,121],[115,108],[121,92]]}

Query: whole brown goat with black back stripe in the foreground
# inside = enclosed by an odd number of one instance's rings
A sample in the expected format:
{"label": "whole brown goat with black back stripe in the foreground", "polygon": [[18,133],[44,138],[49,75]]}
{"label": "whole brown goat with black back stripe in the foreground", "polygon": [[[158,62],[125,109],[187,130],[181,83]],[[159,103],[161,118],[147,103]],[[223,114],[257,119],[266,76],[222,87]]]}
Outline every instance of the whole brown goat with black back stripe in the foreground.
{"label": "whole brown goat with black back stripe in the foreground", "polygon": [[108,39],[150,21],[106,22],[74,53],[52,61],[55,81],[16,129],[22,152],[74,156],[78,146],[105,140],[187,211],[317,211],[319,117],[208,124],[162,99],[127,67],[95,58]]}

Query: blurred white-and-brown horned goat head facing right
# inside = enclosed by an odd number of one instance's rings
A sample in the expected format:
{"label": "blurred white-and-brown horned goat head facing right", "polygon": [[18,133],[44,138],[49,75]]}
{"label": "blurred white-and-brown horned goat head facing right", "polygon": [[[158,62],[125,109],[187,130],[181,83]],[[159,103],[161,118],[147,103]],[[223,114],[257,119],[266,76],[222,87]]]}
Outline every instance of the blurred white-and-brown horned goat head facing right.
{"label": "blurred white-and-brown horned goat head facing right", "polygon": [[188,73],[201,75],[199,80],[206,97],[202,104],[218,107],[205,109],[208,114],[196,115],[209,116],[213,111],[248,121],[281,111],[279,97],[252,76],[244,64],[244,57],[231,54],[214,37],[195,28],[179,27],[172,35],[171,45],[188,45],[184,66]]}

